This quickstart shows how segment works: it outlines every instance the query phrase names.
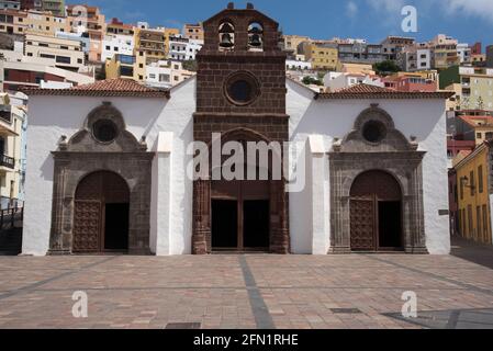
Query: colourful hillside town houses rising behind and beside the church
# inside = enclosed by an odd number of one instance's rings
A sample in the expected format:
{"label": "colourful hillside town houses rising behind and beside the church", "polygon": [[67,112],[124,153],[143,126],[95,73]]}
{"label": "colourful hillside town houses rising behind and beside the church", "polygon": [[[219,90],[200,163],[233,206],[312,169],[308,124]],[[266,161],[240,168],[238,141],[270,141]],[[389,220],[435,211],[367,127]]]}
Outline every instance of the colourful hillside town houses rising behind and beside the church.
{"label": "colourful hillside town houses rising behind and beside the church", "polygon": [[[69,89],[126,79],[167,90],[197,75],[202,22],[181,29],[124,23],[90,4],[0,1],[1,210],[23,206],[29,98],[25,89]],[[255,37],[257,35],[257,37]],[[232,29],[222,29],[224,47]],[[254,45],[261,45],[254,34]],[[289,79],[316,93],[355,86],[396,92],[449,91],[447,152],[450,229],[492,244],[493,45],[437,34],[428,42],[388,36],[317,39],[282,34]],[[444,180],[446,181],[446,180]],[[468,188],[468,191],[466,191]]]}

